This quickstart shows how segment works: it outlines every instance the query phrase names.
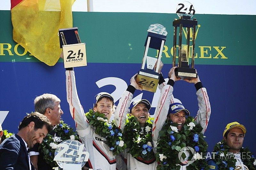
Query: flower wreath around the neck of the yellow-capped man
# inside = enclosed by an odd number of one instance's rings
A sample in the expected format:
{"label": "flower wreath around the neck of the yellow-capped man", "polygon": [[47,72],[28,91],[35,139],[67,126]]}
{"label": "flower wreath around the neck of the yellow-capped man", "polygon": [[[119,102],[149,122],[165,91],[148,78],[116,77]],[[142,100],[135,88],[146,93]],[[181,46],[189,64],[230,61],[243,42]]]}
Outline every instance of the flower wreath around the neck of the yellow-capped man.
{"label": "flower wreath around the neck of the yellow-capped man", "polygon": [[[215,156],[213,157],[216,164],[219,166],[220,170],[234,170],[236,167],[236,159],[234,156],[227,156],[229,154],[229,146],[225,144],[225,140],[220,141],[215,144],[213,148],[213,153]],[[248,147],[241,148],[240,153],[243,154],[241,157],[245,166],[247,166],[250,170],[256,169],[256,159],[254,158],[252,152],[249,151]],[[255,163],[254,163],[255,162]],[[254,165],[255,164],[255,165]]]}

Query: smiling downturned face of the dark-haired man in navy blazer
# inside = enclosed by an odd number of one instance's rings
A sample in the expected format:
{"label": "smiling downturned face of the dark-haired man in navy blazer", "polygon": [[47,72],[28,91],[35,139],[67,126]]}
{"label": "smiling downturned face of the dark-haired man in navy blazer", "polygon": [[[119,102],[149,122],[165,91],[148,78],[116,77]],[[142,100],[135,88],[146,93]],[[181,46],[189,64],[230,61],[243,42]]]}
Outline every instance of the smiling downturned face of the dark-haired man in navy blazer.
{"label": "smiling downturned face of the dark-haired man in navy blazer", "polygon": [[26,143],[28,144],[28,148],[33,148],[36,143],[41,144],[47,133],[48,130],[45,125],[42,127],[42,129],[35,130],[34,127],[30,128],[27,134],[28,136],[26,141]]}

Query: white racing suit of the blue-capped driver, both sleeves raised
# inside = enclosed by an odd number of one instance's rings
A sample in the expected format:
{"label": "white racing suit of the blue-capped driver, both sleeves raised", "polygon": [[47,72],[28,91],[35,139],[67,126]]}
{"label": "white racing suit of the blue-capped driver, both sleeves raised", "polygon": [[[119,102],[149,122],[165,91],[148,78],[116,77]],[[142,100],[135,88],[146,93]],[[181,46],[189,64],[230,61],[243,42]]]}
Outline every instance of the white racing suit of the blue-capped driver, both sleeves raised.
{"label": "white racing suit of the blue-capped driver, both sleeves raised", "polygon": [[[153,139],[154,148],[157,146],[158,133],[164,126],[164,123],[168,114],[169,106],[171,103],[174,103],[173,96],[172,96],[173,85],[174,85],[174,81],[171,79],[169,79],[166,85],[164,84],[159,85],[159,89],[161,89],[161,94],[158,100],[158,105],[156,107],[155,121],[153,123],[153,129],[152,129],[152,139]],[[197,89],[196,95],[197,95],[198,107],[199,107],[195,121],[197,124],[200,124],[202,126],[203,128],[202,133],[204,134],[210,119],[211,106],[210,106],[206,89],[203,87],[202,83],[199,82],[195,86]],[[180,170],[186,170],[186,166],[181,166]]]}

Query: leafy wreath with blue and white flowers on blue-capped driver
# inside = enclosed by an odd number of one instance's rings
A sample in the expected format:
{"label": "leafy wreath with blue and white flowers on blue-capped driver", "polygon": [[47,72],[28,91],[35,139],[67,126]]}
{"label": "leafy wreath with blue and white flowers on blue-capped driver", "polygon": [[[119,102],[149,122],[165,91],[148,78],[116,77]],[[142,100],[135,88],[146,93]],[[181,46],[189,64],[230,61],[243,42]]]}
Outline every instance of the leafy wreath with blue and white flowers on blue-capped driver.
{"label": "leafy wreath with blue and white flowers on blue-capped driver", "polygon": [[[188,126],[193,125],[193,126]],[[156,160],[160,162],[157,166],[157,170],[179,170],[180,158],[179,151],[181,148],[187,146],[195,150],[196,154],[190,154],[188,160],[195,161],[186,168],[189,170],[194,169],[209,169],[205,161],[205,154],[207,152],[207,143],[204,140],[204,136],[201,133],[202,127],[200,124],[196,124],[193,117],[188,116],[184,123],[184,127],[178,132],[178,124],[166,120],[162,130],[159,132],[159,140],[156,147]],[[185,153],[181,154],[185,159]],[[194,157],[194,158],[193,158]]]}

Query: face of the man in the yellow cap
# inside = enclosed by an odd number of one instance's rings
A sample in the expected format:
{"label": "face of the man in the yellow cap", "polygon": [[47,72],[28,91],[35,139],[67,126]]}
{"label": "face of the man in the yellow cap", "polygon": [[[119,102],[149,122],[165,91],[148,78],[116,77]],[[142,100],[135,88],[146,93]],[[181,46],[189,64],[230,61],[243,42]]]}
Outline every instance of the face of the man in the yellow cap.
{"label": "face of the man in the yellow cap", "polygon": [[227,138],[224,137],[224,140],[226,141],[226,144],[230,147],[229,152],[239,152],[244,142],[243,130],[240,128],[230,129]]}

